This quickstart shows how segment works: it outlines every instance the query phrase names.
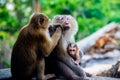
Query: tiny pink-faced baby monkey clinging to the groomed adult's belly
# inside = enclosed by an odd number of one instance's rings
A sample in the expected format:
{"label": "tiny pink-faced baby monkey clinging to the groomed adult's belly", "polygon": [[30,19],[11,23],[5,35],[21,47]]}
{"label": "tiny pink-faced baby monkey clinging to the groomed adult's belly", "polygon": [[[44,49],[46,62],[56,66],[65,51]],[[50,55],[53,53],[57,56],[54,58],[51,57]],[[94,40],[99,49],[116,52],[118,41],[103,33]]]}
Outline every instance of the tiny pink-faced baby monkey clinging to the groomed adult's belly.
{"label": "tiny pink-faced baby monkey clinging to the groomed adult's belly", "polygon": [[73,62],[76,65],[81,64],[83,52],[80,50],[80,48],[78,48],[77,44],[69,43],[67,46],[67,53],[73,58]]}

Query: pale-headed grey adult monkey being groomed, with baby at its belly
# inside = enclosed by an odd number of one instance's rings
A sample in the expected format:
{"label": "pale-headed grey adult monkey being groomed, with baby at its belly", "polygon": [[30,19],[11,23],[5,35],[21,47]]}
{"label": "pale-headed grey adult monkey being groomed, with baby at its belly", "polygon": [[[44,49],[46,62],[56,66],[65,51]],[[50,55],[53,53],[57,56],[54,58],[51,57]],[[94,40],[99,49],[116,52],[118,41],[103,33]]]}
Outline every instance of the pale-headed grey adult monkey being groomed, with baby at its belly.
{"label": "pale-headed grey adult monkey being groomed, with baby at its belly", "polygon": [[52,25],[55,27],[54,25],[58,24],[62,26],[62,36],[50,56],[45,59],[46,74],[55,73],[56,76],[64,76],[67,80],[88,80],[81,66],[75,65],[66,51],[68,43],[75,42],[74,36],[78,31],[76,20],[70,15],[56,15]]}

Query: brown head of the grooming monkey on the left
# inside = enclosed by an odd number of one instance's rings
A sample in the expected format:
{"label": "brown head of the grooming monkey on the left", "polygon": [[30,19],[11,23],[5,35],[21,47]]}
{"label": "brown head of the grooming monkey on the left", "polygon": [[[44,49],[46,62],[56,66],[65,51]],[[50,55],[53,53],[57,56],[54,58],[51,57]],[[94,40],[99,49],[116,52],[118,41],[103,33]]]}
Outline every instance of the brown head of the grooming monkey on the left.
{"label": "brown head of the grooming monkey on the left", "polygon": [[29,21],[30,25],[33,25],[34,28],[48,28],[49,18],[45,14],[34,13]]}

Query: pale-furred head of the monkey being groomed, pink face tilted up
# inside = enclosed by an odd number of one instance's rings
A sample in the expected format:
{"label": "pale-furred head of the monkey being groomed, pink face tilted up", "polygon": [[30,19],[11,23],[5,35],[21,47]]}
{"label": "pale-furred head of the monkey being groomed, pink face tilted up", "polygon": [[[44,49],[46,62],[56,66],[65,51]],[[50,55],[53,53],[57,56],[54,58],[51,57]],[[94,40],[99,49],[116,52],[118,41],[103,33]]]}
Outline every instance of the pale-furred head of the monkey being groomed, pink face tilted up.
{"label": "pale-furred head of the monkey being groomed, pink face tilted up", "polygon": [[56,15],[52,20],[54,24],[61,24],[63,33],[75,35],[78,31],[78,24],[71,15]]}

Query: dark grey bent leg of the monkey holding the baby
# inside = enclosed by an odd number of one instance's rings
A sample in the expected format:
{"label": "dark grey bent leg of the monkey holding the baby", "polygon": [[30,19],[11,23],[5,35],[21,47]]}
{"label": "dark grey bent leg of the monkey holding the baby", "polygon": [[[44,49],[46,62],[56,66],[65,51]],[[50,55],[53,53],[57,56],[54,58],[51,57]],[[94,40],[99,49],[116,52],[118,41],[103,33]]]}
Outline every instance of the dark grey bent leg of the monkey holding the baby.
{"label": "dark grey bent leg of the monkey holding the baby", "polygon": [[80,77],[79,75],[77,75],[67,65],[60,61],[57,62],[57,68],[58,74],[60,73],[62,76],[67,78],[67,80],[88,80],[87,78]]}

